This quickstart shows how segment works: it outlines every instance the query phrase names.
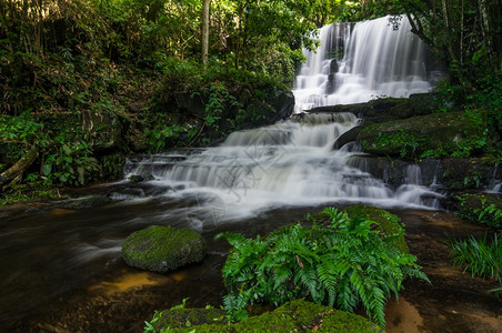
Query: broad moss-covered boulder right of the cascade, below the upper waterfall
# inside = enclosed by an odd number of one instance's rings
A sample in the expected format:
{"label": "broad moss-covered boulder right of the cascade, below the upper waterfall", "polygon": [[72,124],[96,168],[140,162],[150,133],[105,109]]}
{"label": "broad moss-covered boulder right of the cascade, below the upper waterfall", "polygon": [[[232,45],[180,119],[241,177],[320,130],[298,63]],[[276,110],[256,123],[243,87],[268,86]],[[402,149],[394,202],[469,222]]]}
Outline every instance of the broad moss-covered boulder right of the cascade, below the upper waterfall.
{"label": "broad moss-covered boulder right of the cascade, below the upper waterfall", "polygon": [[485,144],[485,128],[481,111],[434,113],[371,124],[359,132],[358,141],[364,152],[379,155],[469,157]]}

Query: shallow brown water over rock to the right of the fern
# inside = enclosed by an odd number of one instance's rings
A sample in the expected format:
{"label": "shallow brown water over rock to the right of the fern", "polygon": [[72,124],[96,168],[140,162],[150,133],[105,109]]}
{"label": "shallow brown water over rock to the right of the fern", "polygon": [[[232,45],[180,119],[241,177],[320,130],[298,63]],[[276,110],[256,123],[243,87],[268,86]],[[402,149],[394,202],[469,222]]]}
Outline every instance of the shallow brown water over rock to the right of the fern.
{"label": "shallow brown water over rock to the right of the fern", "polygon": [[431,284],[409,280],[399,303],[388,307],[388,332],[502,332],[502,302],[488,293],[493,281],[472,278],[452,266],[446,240],[488,231],[453,214],[401,211],[410,252]]}

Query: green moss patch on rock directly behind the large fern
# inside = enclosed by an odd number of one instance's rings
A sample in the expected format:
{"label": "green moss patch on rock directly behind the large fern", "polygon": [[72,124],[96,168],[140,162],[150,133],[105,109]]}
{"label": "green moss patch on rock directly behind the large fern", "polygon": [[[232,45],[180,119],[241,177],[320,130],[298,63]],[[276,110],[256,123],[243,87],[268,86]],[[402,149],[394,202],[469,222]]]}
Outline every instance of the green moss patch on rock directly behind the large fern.
{"label": "green moss patch on rock directly behind the large fern", "polygon": [[378,224],[381,238],[401,252],[409,252],[406,241],[404,240],[404,228],[401,220],[380,208],[371,205],[352,205],[344,209],[351,219],[365,219]]}

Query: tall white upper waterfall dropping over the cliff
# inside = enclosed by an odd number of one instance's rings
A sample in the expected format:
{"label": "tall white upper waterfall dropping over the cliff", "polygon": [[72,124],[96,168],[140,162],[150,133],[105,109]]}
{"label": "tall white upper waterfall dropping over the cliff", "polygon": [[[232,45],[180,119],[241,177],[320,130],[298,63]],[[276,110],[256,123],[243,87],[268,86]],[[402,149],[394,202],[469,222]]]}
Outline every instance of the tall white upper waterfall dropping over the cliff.
{"label": "tall white upper waterfall dropping over the cliff", "polygon": [[406,18],[394,30],[389,17],[320,29],[320,48],[303,51],[307,62],[293,89],[295,113],[430,91],[439,72],[428,62],[428,47],[410,30]]}

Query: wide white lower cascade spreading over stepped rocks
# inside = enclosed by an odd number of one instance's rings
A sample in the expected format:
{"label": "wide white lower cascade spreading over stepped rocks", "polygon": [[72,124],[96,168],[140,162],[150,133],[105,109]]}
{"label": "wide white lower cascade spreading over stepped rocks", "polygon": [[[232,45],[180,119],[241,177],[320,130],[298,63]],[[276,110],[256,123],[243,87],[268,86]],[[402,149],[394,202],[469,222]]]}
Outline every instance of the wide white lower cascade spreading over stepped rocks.
{"label": "wide white lower cascade spreading over stepped rocks", "polygon": [[406,170],[405,183],[392,189],[351,167],[349,158],[361,153],[354,143],[333,150],[335,140],[359,122],[352,113],[303,114],[234,132],[200,153],[130,161],[126,176],[150,178],[161,195],[195,195],[198,209],[212,206],[212,214],[224,214],[222,220],[274,206],[333,202],[434,208],[440,195],[421,185],[420,170]]}

